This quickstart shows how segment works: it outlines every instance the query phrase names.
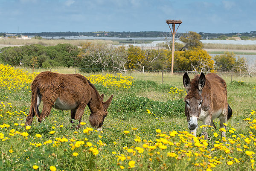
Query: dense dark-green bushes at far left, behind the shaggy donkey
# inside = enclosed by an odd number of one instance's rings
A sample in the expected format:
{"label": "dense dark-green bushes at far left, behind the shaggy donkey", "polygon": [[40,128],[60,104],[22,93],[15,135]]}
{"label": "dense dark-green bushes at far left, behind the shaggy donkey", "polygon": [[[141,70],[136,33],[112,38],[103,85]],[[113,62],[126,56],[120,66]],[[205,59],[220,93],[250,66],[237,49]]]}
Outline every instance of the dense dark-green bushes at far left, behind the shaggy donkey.
{"label": "dense dark-green bushes at far left, behind the shaggy donkey", "polygon": [[78,47],[71,44],[5,47],[1,49],[1,52],[0,61],[12,66],[23,64],[25,67],[31,67],[32,59],[36,57],[35,68],[43,67],[43,63],[47,67],[77,67],[77,55],[79,54]]}

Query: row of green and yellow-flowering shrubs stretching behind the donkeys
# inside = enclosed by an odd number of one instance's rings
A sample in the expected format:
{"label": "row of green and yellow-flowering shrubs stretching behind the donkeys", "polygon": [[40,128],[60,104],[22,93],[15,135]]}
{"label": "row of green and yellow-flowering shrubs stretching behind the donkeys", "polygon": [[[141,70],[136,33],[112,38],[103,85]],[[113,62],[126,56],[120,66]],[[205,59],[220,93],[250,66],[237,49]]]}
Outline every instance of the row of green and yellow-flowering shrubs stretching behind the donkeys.
{"label": "row of green and yellow-flowering shrubs stretching behind the donkeys", "polygon": [[[215,62],[203,49],[188,48],[175,51],[174,70],[215,72],[244,72],[244,58],[236,60],[235,55],[217,55]],[[5,47],[1,49],[0,62],[12,66],[31,68],[78,67],[82,72],[116,71],[140,72],[169,70],[172,51],[169,49],[141,49],[137,46],[113,46],[108,44],[83,44],[79,49],[70,44],[56,46],[30,45]]]}

